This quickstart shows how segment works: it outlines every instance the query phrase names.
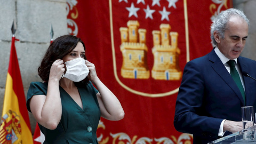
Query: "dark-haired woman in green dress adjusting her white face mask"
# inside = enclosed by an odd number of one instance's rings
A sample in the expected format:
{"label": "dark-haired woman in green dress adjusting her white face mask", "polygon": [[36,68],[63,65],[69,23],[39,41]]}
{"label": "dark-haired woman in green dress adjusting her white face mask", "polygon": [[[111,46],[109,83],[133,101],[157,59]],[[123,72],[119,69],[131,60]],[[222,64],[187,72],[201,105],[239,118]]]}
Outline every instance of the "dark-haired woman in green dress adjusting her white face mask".
{"label": "dark-haired woman in green dress adjusting her white face mask", "polygon": [[93,63],[86,60],[80,38],[56,38],[38,75],[44,82],[30,84],[27,109],[45,135],[44,143],[95,144],[100,116],[112,121],[124,117],[121,103],[100,81]]}

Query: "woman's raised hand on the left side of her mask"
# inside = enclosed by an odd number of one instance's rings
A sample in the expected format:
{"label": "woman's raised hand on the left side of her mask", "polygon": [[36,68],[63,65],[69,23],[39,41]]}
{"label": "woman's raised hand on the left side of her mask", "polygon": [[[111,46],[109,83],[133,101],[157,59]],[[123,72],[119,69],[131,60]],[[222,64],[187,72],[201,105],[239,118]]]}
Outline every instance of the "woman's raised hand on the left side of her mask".
{"label": "woman's raised hand on the left side of her mask", "polygon": [[50,79],[60,81],[60,78],[62,77],[63,73],[65,71],[63,60],[57,59],[52,63],[51,69],[50,69],[50,75],[49,75],[49,81]]}

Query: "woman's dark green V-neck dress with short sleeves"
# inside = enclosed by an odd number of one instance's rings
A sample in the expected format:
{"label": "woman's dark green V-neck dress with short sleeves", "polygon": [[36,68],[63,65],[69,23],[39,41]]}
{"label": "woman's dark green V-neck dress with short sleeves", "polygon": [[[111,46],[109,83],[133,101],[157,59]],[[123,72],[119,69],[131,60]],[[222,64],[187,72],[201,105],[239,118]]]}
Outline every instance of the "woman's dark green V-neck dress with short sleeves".
{"label": "woman's dark green V-neck dress with short sleeves", "polygon": [[[96,93],[99,91],[91,82],[86,87],[77,87],[77,89],[81,95],[83,109],[60,87],[62,115],[59,125],[55,130],[49,130],[39,124],[40,130],[45,135],[44,143],[98,143],[96,131],[100,120],[100,108]],[[28,111],[30,111],[30,98],[33,95],[46,95],[46,93],[47,83],[32,82],[27,94]]]}

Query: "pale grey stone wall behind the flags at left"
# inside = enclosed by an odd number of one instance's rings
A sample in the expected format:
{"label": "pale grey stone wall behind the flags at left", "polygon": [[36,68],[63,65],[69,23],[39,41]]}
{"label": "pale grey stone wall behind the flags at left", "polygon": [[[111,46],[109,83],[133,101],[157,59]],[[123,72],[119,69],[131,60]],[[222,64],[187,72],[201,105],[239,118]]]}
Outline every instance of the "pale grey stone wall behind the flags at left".
{"label": "pale grey stone wall behind the flags at left", "polygon": [[[9,67],[13,19],[17,21],[15,42],[25,95],[32,81],[41,81],[37,68],[50,45],[50,26],[54,38],[68,34],[66,0],[0,0],[0,116]],[[32,132],[35,119],[29,113]]]}

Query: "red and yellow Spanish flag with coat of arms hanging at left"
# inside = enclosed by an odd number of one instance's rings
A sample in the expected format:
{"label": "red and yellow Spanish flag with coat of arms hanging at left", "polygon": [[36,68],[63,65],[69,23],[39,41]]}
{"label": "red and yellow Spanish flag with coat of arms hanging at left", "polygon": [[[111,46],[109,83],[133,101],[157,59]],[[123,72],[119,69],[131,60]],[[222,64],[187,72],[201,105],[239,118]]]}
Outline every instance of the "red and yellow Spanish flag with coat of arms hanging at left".
{"label": "red and yellow Spanish flag with coat of arms hanging at left", "polygon": [[0,123],[0,143],[32,144],[33,138],[15,50],[15,40],[17,39],[13,36],[9,69],[6,78],[3,114]]}

